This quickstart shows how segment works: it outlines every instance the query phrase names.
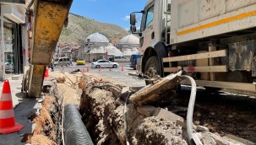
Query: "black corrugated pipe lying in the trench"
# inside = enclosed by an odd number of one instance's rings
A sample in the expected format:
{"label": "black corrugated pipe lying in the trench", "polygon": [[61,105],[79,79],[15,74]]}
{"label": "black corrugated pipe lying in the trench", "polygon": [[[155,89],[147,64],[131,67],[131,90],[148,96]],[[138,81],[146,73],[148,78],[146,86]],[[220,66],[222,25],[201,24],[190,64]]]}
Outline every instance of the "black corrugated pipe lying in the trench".
{"label": "black corrugated pipe lying in the trench", "polygon": [[65,105],[63,127],[65,145],[93,145],[76,105]]}

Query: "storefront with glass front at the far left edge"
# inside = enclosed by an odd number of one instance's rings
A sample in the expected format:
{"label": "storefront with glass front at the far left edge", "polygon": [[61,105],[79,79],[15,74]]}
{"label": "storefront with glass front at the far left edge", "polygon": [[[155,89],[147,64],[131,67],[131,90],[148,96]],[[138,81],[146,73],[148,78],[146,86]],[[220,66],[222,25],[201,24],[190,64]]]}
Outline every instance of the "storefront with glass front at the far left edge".
{"label": "storefront with glass front at the far left edge", "polygon": [[1,3],[0,79],[23,73],[25,4]]}

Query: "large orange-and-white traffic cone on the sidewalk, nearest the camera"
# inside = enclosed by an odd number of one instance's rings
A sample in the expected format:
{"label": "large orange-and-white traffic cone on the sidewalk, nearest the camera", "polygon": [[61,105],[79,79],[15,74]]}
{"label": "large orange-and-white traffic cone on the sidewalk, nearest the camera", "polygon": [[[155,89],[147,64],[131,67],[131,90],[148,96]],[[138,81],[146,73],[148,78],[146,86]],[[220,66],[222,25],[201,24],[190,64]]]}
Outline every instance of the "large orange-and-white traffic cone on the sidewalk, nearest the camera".
{"label": "large orange-and-white traffic cone on the sidewalk, nearest the camera", "polygon": [[8,80],[3,83],[0,99],[0,133],[19,132],[23,126],[15,122],[13,100]]}

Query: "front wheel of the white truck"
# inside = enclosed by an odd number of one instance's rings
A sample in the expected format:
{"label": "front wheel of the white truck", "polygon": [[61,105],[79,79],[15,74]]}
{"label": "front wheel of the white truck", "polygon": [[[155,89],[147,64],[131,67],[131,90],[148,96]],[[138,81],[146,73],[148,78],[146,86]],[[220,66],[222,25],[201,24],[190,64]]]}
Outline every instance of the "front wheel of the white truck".
{"label": "front wheel of the white truck", "polygon": [[161,76],[161,66],[157,56],[150,56],[146,62],[144,74],[150,78],[155,78],[157,75]]}

